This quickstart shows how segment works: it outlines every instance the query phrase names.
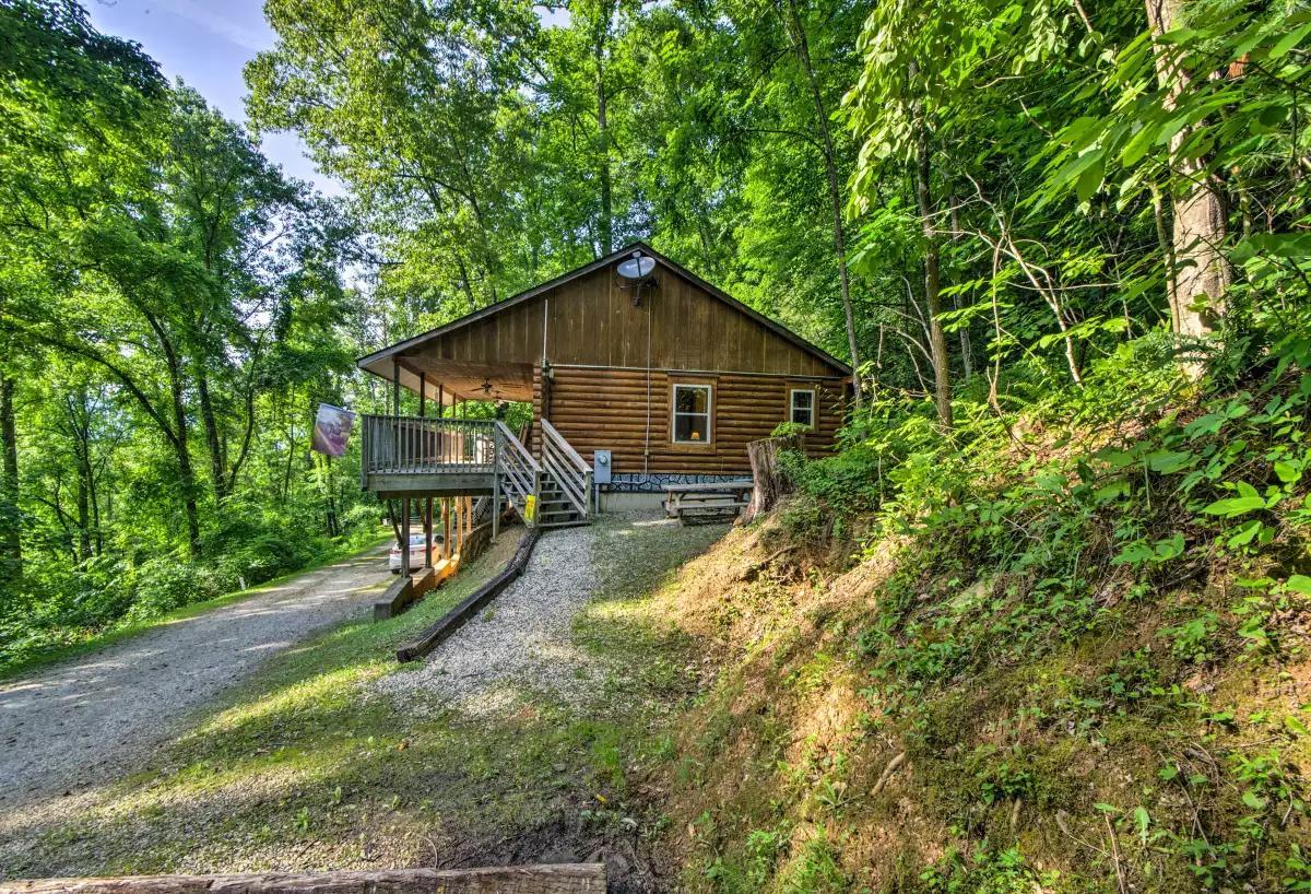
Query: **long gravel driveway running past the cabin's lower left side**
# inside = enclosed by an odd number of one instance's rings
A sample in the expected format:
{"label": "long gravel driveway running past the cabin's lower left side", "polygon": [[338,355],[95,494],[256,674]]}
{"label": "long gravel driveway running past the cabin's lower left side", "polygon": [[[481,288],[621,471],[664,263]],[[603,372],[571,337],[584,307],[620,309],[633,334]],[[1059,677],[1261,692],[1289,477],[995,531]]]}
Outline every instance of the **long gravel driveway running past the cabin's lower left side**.
{"label": "long gravel driveway running past the cabin's lower left side", "polygon": [[372,551],[214,611],[0,683],[0,814],[128,767],[180,720],[389,579]]}

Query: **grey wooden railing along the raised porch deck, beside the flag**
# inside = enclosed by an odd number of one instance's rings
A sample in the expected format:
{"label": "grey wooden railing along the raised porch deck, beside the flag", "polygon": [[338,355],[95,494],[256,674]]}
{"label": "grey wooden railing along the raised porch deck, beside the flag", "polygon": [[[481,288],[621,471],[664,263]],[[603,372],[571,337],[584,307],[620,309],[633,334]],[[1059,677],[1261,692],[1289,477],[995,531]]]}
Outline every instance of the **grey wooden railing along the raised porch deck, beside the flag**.
{"label": "grey wooden railing along the raised porch deck, beside the flag", "polygon": [[364,476],[490,472],[496,468],[497,423],[493,419],[366,414],[363,422]]}

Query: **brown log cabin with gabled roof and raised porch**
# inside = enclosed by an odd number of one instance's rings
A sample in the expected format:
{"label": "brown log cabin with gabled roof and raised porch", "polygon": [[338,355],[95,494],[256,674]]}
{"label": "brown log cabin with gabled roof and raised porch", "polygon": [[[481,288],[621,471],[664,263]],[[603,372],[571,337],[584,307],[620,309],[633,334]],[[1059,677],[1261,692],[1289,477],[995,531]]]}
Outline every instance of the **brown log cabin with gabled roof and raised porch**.
{"label": "brown log cabin with gabled roof and raised porch", "polygon": [[[825,452],[852,375],[642,243],[358,363],[393,395],[392,414],[364,417],[366,489],[488,494],[543,526],[586,522],[621,494],[749,476],[747,443],[781,422]],[[400,416],[402,389],[418,417]],[[450,418],[463,401],[531,402],[531,431]]]}

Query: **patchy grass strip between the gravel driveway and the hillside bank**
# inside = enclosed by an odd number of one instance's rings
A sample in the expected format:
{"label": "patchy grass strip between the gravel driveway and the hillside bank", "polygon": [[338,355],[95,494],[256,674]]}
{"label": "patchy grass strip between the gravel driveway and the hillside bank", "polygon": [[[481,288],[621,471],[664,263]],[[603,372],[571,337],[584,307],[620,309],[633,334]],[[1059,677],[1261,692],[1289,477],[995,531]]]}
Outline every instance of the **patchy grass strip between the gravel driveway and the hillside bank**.
{"label": "patchy grass strip between the gravel driveway and the hillside bank", "polygon": [[670,756],[670,725],[696,688],[690,641],[652,606],[721,534],[595,530],[606,562],[574,640],[604,682],[586,705],[531,680],[493,714],[376,691],[405,672],[396,645],[499,569],[515,545],[502,537],[410,612],[341,625],[270,661],[132,776],[10,818],[0,864],[14,876],[126,874],[632,851],[635,832],[649,840],[661,828],[640,790],[644,767]]}

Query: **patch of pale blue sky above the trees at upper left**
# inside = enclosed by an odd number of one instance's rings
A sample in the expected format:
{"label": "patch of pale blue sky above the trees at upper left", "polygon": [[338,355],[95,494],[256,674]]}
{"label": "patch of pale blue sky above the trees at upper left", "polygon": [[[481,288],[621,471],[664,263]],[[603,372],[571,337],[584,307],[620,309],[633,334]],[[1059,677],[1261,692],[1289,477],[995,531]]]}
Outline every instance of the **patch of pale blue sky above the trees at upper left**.
{"label": "patch of pale blue sky above the trees at upper left", "polygon": [[[233,121],[245,122],[241,69],[273,46],[264,0],[83,0],[96,29],[136,41],[170,81],[181,77]],[[264,153],[328,195],[343,189],[319,173],[295,134],[265,134]]]}

